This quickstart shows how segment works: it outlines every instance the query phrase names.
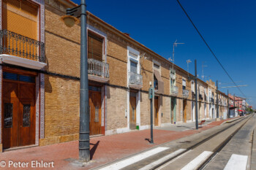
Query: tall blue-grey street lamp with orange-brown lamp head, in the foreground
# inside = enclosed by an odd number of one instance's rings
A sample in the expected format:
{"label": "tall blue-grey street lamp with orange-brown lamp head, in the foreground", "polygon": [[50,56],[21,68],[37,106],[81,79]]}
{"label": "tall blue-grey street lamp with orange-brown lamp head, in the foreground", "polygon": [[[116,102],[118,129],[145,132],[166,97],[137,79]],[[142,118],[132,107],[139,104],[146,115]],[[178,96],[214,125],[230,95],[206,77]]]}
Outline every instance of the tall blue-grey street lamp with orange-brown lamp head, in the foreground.
{"label": "tall blue-grey street lamp with orange-brown lamp head, in the foreground", "polygon": [[61,20],[72,27],[79,23],[80,18],[80,130],[79,130],[79,161],[90,161],[90,125],[89,125],[89,83],[87,62],[87,31],[86,31],[86,0],[81,0],[78,7],[67,9],[67,15]]}

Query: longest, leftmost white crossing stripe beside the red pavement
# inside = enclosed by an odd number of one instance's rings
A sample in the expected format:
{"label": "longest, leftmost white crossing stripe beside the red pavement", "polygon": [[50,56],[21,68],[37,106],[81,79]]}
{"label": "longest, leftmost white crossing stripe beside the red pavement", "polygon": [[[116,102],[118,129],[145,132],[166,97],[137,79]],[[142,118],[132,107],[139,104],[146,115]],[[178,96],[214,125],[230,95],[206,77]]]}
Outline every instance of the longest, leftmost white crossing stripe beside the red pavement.
{"label": "longest, leftmost white crossing stripe beside the red pavement", "polygon": [[162,151],[167,150],[167,149],[169,149],[169,147],[157,147],[153,150],[149,150],[147,152],[140,153],[139,155],[132,156],[132,158],[127,158],[123,161],[113,163],[110,166],[105,166],[100,170],[103,170],[103,169],[104,170],[107,170],[107,169],[110,169],[110,170],[123,169],[124,167],[129,166],[132,163],[136,163],[138,161],[141,161],[145,158],[150,157],[151,155],[157,154],[157,153],[162,152]]}

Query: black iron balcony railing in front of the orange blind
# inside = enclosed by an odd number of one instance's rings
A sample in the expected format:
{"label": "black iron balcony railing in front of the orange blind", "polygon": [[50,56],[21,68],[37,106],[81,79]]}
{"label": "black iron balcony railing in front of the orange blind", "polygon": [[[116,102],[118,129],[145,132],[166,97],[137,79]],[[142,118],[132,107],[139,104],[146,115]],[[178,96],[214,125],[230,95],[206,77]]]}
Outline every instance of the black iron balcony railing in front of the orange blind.
{"label": "black iron balcony railing in front of the orange blind", "polygon": [[0,54],[45,63],[45,44],[4,29],[0,30]]}

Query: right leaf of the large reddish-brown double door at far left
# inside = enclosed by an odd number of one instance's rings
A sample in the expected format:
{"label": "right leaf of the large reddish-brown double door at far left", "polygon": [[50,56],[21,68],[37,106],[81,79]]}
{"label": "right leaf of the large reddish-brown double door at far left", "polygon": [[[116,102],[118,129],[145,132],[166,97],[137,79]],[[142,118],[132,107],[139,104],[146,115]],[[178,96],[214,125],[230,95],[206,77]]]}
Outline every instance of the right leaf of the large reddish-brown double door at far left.
{"label": "right leaf of the large reddish-brown double door at far left", "polygon": [[19,87],[19,146],[35,144],[35,87],[34,84],[20,83]]}

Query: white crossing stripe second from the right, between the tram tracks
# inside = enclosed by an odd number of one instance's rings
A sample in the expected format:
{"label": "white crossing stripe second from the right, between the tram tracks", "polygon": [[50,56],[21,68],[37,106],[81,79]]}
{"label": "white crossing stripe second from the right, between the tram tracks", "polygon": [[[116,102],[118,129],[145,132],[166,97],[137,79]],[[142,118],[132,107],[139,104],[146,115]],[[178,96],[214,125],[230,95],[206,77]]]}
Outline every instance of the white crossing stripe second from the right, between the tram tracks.
{"label": "white crossing stripe second from the right, between the tram tracks", "polygon": [[190,161],[186,166],[184,166],[181,170],[192,170],[197,169],[203,162],[205,162],[213,152],[204,151],[197,158]]}

